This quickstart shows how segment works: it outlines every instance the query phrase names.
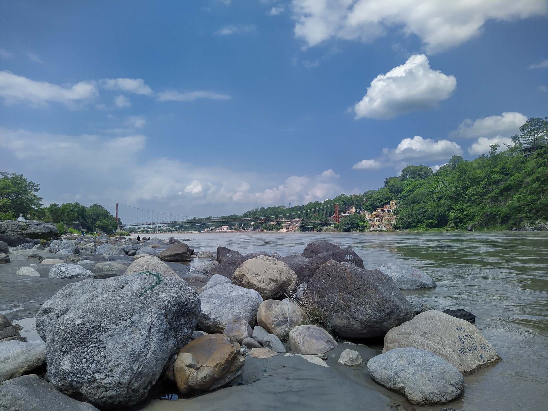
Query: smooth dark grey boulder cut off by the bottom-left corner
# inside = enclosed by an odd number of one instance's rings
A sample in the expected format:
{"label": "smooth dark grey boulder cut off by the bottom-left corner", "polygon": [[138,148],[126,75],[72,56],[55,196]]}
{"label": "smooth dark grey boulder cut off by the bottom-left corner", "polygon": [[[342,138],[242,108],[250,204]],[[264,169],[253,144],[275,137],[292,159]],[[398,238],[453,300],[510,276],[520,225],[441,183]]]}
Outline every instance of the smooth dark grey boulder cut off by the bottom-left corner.
{"label": "smooth dark grey boulder cut off by the bottom-left corner", "polygon": [[68,397],[36,374],[23,375],[0,385],[2,411],[99,411],[87,402]]}

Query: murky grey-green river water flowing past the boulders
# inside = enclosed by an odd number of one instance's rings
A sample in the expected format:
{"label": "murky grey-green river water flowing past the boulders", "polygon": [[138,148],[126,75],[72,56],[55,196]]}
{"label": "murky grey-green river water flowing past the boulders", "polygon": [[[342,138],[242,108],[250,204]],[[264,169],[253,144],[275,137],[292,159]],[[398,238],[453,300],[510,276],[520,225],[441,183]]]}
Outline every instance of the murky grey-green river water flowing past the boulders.
{"label": "murky grey-green river water flowing past the boulders", "polygon": [[[164,239],[172,235],[150,236]],[[450,407],[467,411],[548,409],[547,232],[185,233],[173,236],[190,238],[189,245],[196,250],[215,252],[216,247],[225,246],[242,254],[265,251],[282,256],[300,254],[307,243],[324,240],[354,249],[366,269],[374,269],[384,262],[417,267],[435,279],[438,287],[404,294],[416,295],[440,311],[462,308],[472,312],[476,315],[476,327],[503,359],[466,376],[464,396],[450,403]],[[193,261],[192,265],[195,264]],[[6,299],[20,306],[26,304],[24,300],[17,301],[13,288],[9,289],[10,295],[6,295],[0,278],[0,310]],[[48,293],[52,292],[48,288]],[[33,300],[47,298],[49,296],[39,295]],[[416,408],[437,410],[441,407]]]}

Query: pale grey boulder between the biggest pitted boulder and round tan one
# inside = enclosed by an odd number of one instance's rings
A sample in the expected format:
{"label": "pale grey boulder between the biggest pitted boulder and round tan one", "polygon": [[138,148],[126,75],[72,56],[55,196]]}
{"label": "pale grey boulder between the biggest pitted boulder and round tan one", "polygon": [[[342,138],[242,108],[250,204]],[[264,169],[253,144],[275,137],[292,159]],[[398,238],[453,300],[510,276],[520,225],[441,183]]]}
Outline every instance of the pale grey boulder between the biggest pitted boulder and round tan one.
{"label": "pale grey boulder between the biggest pitted boulder and round tan one", "polygon": [[257,310],[262,302],[255,290],[235,284],[220,284],[200,294],[202,312],[199,327],[207,333],[222,333],[233,315],[243,317],[250,326],[257,322]]}

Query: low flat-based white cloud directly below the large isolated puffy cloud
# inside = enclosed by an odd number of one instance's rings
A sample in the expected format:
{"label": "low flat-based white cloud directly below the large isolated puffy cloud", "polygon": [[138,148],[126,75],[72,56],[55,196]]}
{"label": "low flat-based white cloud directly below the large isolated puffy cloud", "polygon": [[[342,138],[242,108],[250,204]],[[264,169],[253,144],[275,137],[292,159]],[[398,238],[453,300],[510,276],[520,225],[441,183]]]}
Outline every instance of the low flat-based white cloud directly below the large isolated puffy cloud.
{"label": "low flat-based white cloud directly below the large isolated puffy cloud", "polygon": [[395,149],[383,149],[376,159],[362,160],[352,166],[353,169],[377,169],[396,167],[402,169],[408,164],[427,164],[448,160],[452,156],[463,154],[461,147],[454,141],[423,139],[415,135],[412,139],[403,139]]}

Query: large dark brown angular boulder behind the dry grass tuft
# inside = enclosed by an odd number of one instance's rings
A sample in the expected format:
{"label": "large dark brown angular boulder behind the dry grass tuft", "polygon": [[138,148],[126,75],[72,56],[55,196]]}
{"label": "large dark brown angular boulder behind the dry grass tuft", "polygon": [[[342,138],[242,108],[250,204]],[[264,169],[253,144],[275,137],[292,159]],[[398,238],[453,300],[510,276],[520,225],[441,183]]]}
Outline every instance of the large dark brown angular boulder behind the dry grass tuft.
{"label": "large dark brown angular boulder behind the dry grass tuft", "polygon": [[379,270],[328,261],[306,289],[324,299],[325,306],[330,307],[327,323],[343,338],[382,336],[414,316],[396,284]]}

